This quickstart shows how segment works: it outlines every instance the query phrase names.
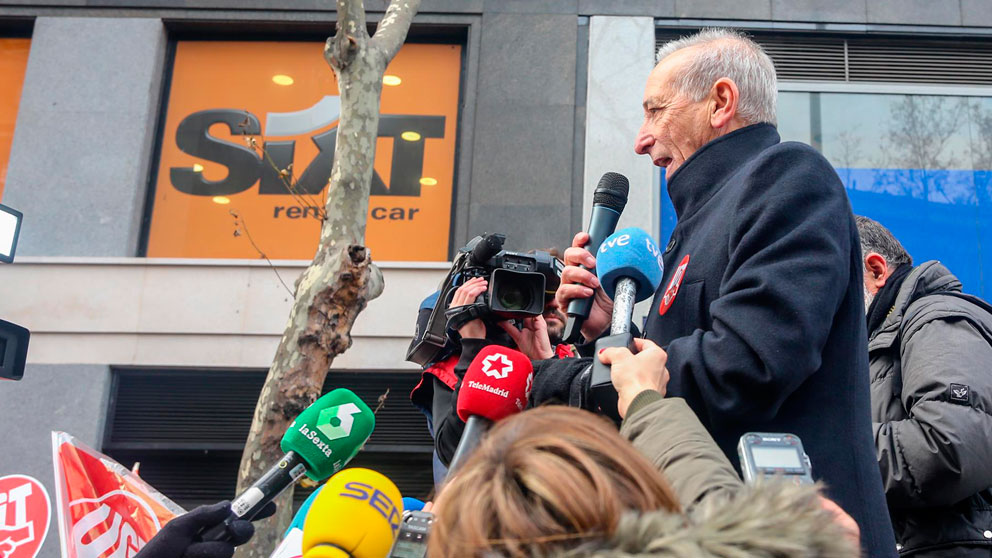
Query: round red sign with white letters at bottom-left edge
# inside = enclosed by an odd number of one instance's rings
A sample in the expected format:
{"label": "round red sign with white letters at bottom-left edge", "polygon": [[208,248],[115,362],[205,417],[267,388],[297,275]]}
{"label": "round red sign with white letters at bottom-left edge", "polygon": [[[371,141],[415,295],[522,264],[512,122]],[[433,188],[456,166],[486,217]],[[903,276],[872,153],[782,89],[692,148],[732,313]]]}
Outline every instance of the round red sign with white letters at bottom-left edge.
{"label": "round red sign with white letters at bottom-left edge", "polygon": [[0,558],[34,558],[52,518],[48,492],[25,475],[0,477]]}

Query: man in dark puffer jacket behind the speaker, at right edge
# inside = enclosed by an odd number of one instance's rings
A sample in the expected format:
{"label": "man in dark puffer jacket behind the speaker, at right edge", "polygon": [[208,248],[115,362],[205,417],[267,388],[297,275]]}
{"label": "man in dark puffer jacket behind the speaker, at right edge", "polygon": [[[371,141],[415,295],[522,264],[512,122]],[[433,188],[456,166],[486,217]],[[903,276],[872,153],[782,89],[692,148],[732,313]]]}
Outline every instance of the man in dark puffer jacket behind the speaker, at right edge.
{"label": "man in dark puffer jacket behind the speaker, at right edge", "polygon": [[992,314],[857,217],[872,421],[901,556],[992,557]]}

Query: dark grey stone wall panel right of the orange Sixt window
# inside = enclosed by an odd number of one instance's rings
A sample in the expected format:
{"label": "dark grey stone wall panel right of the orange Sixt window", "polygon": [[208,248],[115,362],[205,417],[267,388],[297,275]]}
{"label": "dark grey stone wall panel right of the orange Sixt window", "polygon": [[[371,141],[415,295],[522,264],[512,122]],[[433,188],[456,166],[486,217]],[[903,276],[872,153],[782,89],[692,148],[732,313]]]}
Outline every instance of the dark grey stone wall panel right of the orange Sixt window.
{"label": "dark grey stone wall panel right of the orange Sixt window", "polygon": [[518,249],[571,240],[577,29],[575,15],[482,16],[470,236],[505,232]]}

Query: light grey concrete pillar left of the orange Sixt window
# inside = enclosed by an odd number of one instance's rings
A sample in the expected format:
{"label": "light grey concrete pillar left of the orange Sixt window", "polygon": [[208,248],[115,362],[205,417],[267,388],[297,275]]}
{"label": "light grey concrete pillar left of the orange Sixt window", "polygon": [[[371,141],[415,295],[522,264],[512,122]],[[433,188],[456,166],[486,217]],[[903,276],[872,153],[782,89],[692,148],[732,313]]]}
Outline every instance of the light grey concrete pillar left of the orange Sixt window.
{"label": "light grey concrete pillar left of the orange Sixt window", "polygon": [[165,59],[160,20],[35,22],[4,203],[18,256],[133,256]]}

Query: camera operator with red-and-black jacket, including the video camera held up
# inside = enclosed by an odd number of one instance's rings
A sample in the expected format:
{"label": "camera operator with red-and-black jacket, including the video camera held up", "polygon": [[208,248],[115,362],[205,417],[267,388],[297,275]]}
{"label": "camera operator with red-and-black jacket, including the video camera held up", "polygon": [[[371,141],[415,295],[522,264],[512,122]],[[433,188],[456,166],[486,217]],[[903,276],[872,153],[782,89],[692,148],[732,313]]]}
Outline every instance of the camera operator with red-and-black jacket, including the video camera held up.
{"label": "camera operator with red-and-black jacket, including the video camera held up", "polygon": [[[557,250],[512,252],[503,249],[505,241],[500,233],[470,240],[420,305],[407,360],[423,373],[410,401],[427,417],[435,439],[435,483],[447,474],[464,430],[455,392],[479,350],[491,344],[519,348],[542,362],[575,355],[573,347],[559,344],[566,318],[555,301],[564,268]],[[535,382],[540,391],[540,379]]]}

